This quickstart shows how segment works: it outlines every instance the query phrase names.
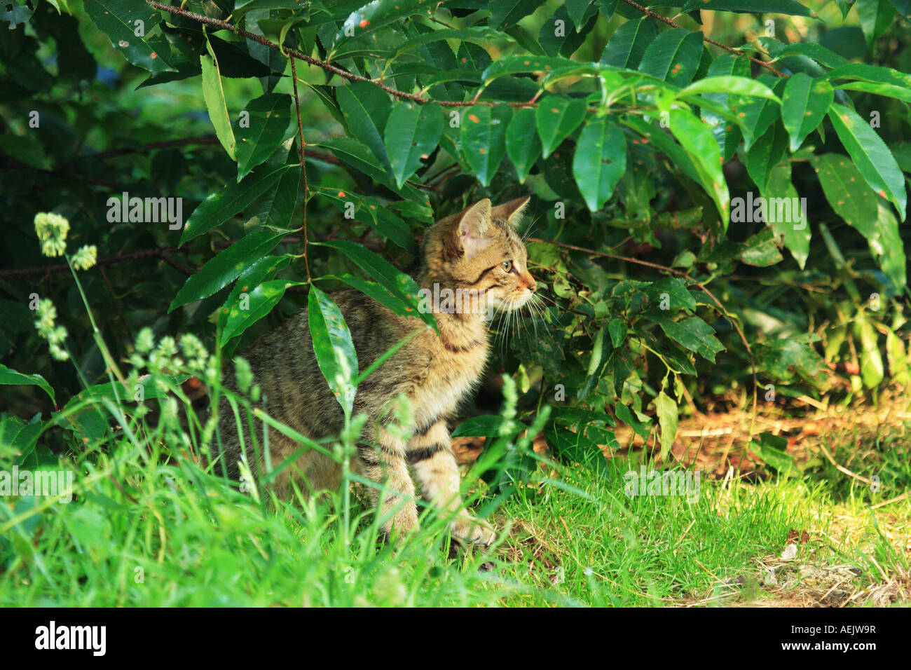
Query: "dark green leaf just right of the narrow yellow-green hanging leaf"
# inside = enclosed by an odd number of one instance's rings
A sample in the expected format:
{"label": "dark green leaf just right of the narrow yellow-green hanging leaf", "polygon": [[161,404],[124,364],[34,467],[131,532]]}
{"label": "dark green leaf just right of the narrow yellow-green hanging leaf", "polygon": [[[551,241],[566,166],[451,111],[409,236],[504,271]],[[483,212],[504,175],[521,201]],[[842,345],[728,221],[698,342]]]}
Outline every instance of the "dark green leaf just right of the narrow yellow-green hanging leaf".
{"label": "dark green leaf just right of the narrow yellow-green hanging leaf", "polygon": [[268,159],[275,149],[287,139],[291,121],[292,98],[278,93],[267,93],[251,100],[234,124],[237,139],[237,180]]}

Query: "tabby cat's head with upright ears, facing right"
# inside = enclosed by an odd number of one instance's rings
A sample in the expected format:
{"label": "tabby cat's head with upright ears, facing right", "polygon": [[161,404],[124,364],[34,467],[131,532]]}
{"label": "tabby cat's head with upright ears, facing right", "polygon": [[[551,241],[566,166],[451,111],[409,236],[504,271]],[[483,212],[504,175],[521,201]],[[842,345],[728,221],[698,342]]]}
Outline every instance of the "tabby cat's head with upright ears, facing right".
{"label": "tabby cat's head with upright ears, facing right", "polygon": [[525,243],[516,232],[527,201],[519,198],[493,207],[485,198],[437,222],[424,243],[429,278],[461,290],[482,309],[512,310],[526,304],[537,286],[528,273]]}

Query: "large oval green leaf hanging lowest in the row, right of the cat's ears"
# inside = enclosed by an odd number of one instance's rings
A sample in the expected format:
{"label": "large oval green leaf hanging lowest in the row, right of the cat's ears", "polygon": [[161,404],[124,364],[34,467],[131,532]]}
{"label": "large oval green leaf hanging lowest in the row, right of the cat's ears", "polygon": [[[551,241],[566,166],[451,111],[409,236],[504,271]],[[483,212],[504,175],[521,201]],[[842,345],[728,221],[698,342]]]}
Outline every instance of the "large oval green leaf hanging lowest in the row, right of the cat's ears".
{"label": "large oval green leaf hanging lowest in the row, right of the cat's ears", "polygon": [[590,211],[599,211],[626,172],[626,139],[608,117],[582,127],[572,162],[573,176]]}

